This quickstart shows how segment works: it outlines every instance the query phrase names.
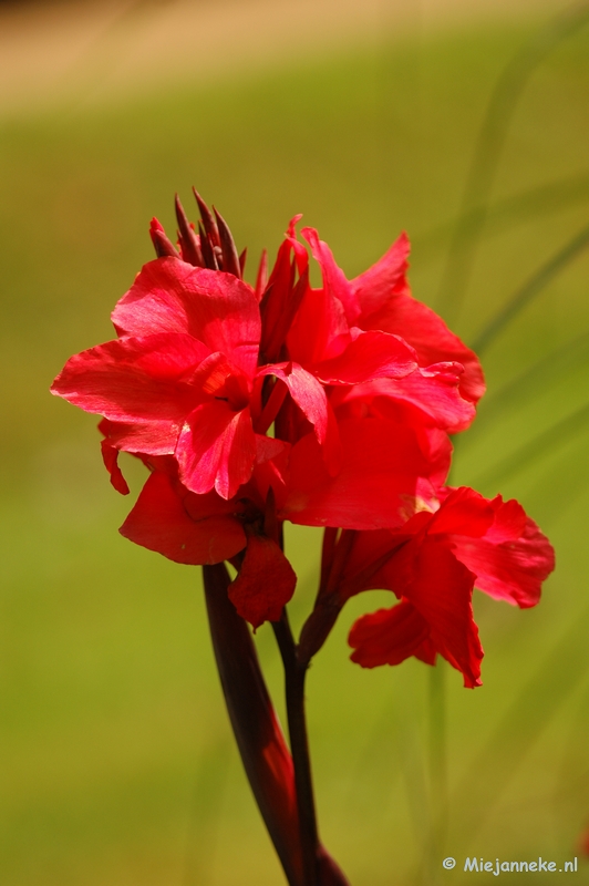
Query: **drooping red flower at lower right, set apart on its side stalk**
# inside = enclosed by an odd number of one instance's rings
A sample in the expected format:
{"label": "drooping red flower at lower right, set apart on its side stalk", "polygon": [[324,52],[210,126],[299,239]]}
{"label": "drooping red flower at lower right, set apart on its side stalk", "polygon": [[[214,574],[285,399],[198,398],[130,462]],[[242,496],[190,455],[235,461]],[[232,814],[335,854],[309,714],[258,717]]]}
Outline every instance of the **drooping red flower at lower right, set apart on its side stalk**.
{"label": "drooping red flower at lower right, set apart on its side stalk", "polygon": [[526,608],[538,602],[554,569],[548,539],[517,502],[489,501],[465,487],[445,491],[435,513],[422,511],[397,529],[333,542],[328,538],[322,593],[301,643],[314,650],[324,639],[322,620],[332,624],[352,595],[389,589],[401,601],[354,624],[352,660],[372,668],[416,656],[433,664],[440,653],[467,687],[479,684],[483,658],[474,586]]}

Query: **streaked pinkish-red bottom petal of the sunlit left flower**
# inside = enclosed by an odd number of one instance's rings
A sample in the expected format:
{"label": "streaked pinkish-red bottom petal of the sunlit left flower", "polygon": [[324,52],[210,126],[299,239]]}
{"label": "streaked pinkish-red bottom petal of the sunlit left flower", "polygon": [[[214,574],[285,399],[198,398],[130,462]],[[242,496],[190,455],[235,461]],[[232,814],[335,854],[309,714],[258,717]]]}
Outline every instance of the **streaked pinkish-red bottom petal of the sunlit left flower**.
{"label": "streaked pinkish-red bottom petal of the sunlit left flower", "polygon": [[250,478],[256,460],[249,409],[234,412],[221,401],[197,406],[186,420],[175,456],[180,480],[192,492],[216,488],[231,498]]}

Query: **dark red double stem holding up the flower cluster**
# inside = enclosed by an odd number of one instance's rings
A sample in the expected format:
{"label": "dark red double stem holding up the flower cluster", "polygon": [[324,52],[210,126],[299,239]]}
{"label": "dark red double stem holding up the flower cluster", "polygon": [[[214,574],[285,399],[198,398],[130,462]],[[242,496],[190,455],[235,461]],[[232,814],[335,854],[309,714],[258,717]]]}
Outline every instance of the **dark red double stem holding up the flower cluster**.
{"label": "dark red double stem holding up the flower cluster", "polygon": [[297,647],[286,614],[273,627],[287,674],[287,710],[296,770],[250,630],[229,600],[227,569],[224,564],[204,566],[203,574],[213,648],[227,710],[248,781],[289,886],[350,886],[317,837],[304,723],[307,666],[301,667],[297,661]]}

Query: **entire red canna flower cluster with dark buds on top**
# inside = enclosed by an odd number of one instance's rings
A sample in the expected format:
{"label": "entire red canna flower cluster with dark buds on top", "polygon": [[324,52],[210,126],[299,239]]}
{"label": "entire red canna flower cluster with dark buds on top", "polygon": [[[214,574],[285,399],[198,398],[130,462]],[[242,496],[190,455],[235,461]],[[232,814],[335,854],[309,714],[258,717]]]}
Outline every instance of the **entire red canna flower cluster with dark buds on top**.
{"label": "entire red canna flower cluster with dark buds on top", "polygon": [[120,452],[149,468],[122,534],[178,563],[230,562],[229,598],[256,628],[294,591],[283,522],[323,527],[301,659],[351,596],[389,589],[392,608],[353,626],[352,659],[371,668],[441,655],[477,686],[475,585],[534,606],[554,555],[517,502],[445,485],[450,435],[484,392],[476,356],[411,296],[404,235],[348,280],[302,228],[316,289],[296,217],[250,286],[245,253],[196,196],[198,230],[176,202],[177,247],[152,223],[157,258],[116,305],[117,338],[73,357],[52,387],[103,416],[115,488],[128,492]]}

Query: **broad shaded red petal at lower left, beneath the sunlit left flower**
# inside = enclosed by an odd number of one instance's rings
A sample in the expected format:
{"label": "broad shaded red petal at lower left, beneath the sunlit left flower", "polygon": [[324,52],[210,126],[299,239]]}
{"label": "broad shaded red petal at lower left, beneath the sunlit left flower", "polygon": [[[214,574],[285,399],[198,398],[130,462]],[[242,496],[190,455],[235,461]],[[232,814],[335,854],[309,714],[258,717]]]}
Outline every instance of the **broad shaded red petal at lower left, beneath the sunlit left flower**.
{"label": "broad shaded red petal at lower left, beneath the sunlit left flower", "polygon": [[120,532],[176,563],[220,563],[246,546],[236,509],[216,493],[183,498],[166,474],[154,473]]}

